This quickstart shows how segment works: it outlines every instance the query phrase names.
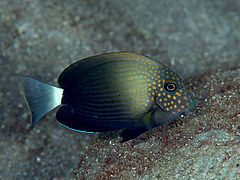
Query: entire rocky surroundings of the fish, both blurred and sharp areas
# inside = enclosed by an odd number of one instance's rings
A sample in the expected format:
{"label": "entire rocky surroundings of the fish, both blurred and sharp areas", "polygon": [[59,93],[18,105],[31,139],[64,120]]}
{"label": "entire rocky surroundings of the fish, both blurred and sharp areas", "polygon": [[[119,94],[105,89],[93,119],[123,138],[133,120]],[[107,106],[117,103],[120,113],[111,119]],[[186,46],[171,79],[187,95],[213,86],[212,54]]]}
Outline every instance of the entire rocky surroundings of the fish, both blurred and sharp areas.
{"label": "entire rocky surroundings of the fish, both blurred and sharp areas", "polygon": [[[58,86],[113,51],[169,66],[196,111],[124,144],[70,131],[56,110],[31,127],[22,76]],[[239,179],[239,66],[237,0],[0,0],[0,179]]]}

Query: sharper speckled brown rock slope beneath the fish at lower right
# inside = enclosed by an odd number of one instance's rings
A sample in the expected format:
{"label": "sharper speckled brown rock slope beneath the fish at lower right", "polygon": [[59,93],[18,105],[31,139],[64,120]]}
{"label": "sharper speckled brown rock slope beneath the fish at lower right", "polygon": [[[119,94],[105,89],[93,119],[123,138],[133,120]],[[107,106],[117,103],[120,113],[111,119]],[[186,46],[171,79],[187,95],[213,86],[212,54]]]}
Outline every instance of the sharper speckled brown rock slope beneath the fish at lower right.
{"label": "sharper speckled brown rock slope beneath the fish at lower right", "polygon": [[240,68],[187,84],[194,113],[126,143],[93,139],[74,179],[240,179]]}

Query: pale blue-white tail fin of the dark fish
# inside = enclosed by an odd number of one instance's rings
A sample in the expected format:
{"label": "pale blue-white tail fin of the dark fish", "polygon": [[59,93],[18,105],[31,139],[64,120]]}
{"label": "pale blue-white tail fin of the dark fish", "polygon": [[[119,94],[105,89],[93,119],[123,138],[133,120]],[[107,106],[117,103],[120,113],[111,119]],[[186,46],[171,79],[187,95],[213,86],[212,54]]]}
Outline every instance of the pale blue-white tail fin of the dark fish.
{"label": "pale blue-white tail fin of the dark fish", "polygon": [[32,124],[61,104],[63,89],[50,86],[26,76],[24,93],[32,113]]}

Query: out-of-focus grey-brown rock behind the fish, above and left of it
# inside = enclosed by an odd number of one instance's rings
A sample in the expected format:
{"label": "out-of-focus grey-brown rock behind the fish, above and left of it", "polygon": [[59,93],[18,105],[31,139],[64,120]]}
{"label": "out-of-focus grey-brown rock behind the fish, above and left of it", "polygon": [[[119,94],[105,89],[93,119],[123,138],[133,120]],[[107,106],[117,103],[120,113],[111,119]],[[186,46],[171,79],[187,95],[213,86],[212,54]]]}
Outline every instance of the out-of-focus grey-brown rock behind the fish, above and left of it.
{"label": "out-of-focus grey-brown rock behind the fish, above and left of it", "polygon": [[[71,63],[112,51],[138,52],[159,59],[183,78],[238,67],[239,10],[240,1],[236,0],[0,0],[0,179],[69,179],[79,156],[85,157],[86,144],[95,137],[62,127],[55,121],[54,112],[32,128],[20,77],[30,75],[58,86],[59,74]],[[205,90],[201,86],[204,82],[192,87]],[[204,98],[198,101],[204,102],[202,106],[209,103]],[[203,107],[200,104],[197,112],[204,113]],[[198,115],[185,117],[183,127]],[[200,127],[208,127],[202,121],[195,126],[199,133]],[[169,144],[165,151],[172,152],[169,148],[176,149],[183,140],[192,142],[181,136],[175,142],[176,135],[169,137],[169,133],[180,133],[181,127],[157,128],[129,143],[142,150],[146,149],[142,141],[151,143],[152,138],[159,138],[159,144]],[[190,134],[192,131],[195,129]],[[96,141],[100,140],[92,143]],[[101,144],[104,142],[109,140],[101,139]],[[111,142],[116,144],[118,139]]]}

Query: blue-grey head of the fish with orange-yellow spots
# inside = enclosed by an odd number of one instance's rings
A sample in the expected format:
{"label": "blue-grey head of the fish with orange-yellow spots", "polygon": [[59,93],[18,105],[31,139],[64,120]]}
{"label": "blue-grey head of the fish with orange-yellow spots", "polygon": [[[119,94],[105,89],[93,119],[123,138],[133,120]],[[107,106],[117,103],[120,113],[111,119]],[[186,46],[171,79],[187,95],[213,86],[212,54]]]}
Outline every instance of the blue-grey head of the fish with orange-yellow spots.
{"label": "blue-grey head of the fish with orange-yellow spots", "polygon": [[168,67],[161,65],[156,103],[164,111],[171,114],[184,114],[195,108],[195,101],[188,92],[181,78]]}

